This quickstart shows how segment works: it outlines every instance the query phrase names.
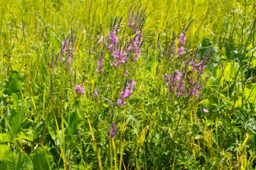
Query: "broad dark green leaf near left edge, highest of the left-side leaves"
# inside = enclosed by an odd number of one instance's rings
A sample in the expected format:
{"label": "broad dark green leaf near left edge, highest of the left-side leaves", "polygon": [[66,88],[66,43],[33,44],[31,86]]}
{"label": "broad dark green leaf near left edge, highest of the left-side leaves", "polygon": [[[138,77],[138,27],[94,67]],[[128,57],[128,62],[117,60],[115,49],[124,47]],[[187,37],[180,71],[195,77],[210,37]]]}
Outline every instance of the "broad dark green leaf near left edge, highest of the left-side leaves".
{"label": "broad dark green leaf near left edge, highest of the left-side leaves", "polygon": [[6,82],[6,93],[11,95],[12,93],[19,93],[22,90],[22,79],[19,77],[19,72],[12,71],[12,74]]}

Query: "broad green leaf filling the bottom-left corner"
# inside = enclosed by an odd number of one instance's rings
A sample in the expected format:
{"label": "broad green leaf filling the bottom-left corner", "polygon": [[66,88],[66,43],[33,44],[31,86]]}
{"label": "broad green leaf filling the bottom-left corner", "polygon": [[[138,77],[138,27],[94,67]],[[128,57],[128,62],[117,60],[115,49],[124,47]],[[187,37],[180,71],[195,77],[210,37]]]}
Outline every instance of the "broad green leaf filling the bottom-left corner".
{"label": "broad green leaf filling the bottom-left corner", "polygon": [[33,162],[31,158],[23,153],[6,151],[3,154],[3,159],[1,161],[1,170],[31,170],[33,169]]}

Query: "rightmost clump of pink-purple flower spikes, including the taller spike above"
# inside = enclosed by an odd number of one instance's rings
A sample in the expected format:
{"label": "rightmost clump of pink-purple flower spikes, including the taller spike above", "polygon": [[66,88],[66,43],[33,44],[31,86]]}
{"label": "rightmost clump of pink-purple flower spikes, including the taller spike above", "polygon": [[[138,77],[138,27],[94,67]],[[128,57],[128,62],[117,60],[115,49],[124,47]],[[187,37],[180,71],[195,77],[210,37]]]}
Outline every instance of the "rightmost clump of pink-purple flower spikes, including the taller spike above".
{"label": "rightmost clump of pink-purple flower spikes, including the taller spike above", "polygon": [[[178,48],[178,56],[182,56],[185,44],[185,32],[180,34],[178,42],[181,44]],[[196,52],[197,53],[197,52]],[[198,59],[197,54],[193,57],[186,56],[180,58],[178,69],[173,70],[171,74],[165,73],[164,82],[168,86],[170,97],[176,95],[177,97],[200,96],[200,90],[203,89],[202,77],[203,69],[206,67],[207,61],[210,62],[211,50],[207,50],[203,59]]]}

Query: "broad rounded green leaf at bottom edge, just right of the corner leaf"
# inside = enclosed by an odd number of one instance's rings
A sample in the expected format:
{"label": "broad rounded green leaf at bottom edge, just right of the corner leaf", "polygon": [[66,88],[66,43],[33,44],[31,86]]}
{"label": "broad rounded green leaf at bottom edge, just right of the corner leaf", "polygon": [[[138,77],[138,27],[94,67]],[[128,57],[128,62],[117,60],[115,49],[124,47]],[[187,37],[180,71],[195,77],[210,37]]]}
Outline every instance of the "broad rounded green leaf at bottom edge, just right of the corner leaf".
{"label": "broad rounded green leaf at bottom edge, just right of the corner leaf", "polygon": [[35,170],[44,170],[53,168],[53,155],[44,147],[38,147],[35,149],[29,157],[33,162]]}

